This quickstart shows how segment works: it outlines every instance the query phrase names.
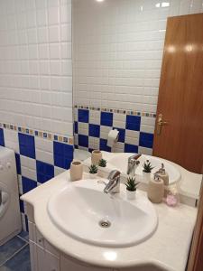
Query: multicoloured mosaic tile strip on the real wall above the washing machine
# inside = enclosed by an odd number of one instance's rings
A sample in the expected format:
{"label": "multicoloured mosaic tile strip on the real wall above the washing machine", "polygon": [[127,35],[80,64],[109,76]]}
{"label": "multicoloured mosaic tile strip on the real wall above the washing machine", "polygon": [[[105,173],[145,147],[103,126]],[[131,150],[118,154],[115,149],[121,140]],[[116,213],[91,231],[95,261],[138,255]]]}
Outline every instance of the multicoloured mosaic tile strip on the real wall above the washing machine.
{"label": "multicoloured mosaic tile strip on the real wall above the washing machine", "polygon": [[15,125],[10,125],[10,124],[5,124],[5,123],[0,123],[0,127],[4,129],[8,129],[8,130],[14,130],[26,135],[34,135],[36,137],[42,137],[47,140],[59,141],[61,143],[73,145],[73,137],[69,137],[69,136],[55,135],[46,131],[33,130],[33,129],[25,128],[22,126],[15,126]]}

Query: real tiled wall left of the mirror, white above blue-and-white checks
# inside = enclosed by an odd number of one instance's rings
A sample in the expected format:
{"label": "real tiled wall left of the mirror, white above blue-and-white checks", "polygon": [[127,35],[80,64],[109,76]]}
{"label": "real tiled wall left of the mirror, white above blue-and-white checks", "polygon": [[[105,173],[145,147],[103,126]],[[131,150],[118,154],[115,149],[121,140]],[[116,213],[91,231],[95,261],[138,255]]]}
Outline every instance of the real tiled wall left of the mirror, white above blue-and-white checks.
{"label": "real tiled wall left of the mirror, white above blue-and-white checks", "polygon": [[1,0],[0,145],[20,194],[69,168],[72,126],[71,0]]}

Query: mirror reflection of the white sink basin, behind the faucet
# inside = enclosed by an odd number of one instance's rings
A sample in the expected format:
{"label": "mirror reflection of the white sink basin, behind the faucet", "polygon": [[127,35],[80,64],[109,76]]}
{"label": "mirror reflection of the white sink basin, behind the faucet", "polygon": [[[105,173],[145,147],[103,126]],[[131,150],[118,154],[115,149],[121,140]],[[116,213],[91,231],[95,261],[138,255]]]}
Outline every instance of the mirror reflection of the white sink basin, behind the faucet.
{"label": "mirror reflection of the white sink basin, behind the faucet", "polygon": [[[108,162],[108,167],[116,168],[123,174],[127,173],[127,161],[128,157],[134,154],[116,154],[113,158],[110,158]],[[138,159],[140,161],[140,165],[136,169],[136,175],[140,176],[142,179],[143,176],[143,163],[146,160],[150,160],[152,166],[154,167],[152,169],[152,175],[156,171],[158,171],[161,168],[161,163],[164,164],[166,172],[169,174],[169,183],[175,183],[180,181],[180,172],[172,165],[165,161],[163,161],[161,158],[154,157],[151,155],[145,155],[142,154],[142,156]],[[139,180],[142,181],[142,180]],[[144,180],[143,180],[144,182]]]}

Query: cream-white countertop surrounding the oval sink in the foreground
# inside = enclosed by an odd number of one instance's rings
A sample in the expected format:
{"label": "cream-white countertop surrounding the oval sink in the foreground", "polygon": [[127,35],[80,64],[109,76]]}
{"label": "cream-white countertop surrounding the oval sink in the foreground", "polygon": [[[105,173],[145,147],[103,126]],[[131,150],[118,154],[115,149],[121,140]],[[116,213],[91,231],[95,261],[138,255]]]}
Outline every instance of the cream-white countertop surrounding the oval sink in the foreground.
{"label": "cream-white countertop surrounding the oval sink in the foreground", "polygon": [[159,225],[151,238],[129,248],[101,248],[70,238],[51,222],[47,202],[52,194],[66,187],[68,182],[69,171],[61,173],[21,198],[33,206],[36,226],[52,246],[70,257],[94,266],[122,268],[152,264],[163,270],[185,270],[197,215],[196,208],[184,204],[176,208],[170,208],[165,203],[154,204]]}

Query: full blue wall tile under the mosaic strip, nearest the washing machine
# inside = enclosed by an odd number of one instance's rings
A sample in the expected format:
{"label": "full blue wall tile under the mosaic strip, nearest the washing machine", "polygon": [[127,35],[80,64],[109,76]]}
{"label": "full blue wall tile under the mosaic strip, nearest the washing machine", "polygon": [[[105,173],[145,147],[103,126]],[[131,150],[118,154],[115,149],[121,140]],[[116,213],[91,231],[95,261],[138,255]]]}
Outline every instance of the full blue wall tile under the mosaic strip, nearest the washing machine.
{"label": "full blue wall tile under the mosaic strip, nearest the washing machine", "polygon": [[34,136],[18,133],[20,154],[35,159]]}

